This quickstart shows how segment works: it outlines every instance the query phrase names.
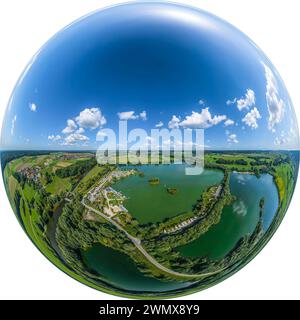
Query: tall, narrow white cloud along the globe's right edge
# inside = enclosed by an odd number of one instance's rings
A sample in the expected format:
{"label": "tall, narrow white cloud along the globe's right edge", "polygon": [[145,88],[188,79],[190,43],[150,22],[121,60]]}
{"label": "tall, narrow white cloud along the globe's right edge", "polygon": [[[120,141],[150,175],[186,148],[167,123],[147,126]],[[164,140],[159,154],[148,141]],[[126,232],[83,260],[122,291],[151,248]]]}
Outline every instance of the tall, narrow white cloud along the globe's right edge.
{"label": "tall, narrow white cloud along the globe's right edge", "polygon": [[268,128],[275,132],[275,126],[281,122],[284,116],[284,101],[279,96],[276,78],[272,70],[262,62],[266,77],[266,99],[269,111]]}

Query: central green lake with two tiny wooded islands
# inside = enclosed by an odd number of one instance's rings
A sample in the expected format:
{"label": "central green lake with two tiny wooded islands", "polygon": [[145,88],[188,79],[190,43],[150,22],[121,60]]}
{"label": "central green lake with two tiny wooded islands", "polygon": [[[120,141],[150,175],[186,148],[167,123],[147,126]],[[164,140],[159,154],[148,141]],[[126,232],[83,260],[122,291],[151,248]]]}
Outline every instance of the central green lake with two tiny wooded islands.
{"label": "central green lake with two tiny wooded islands", "polygon": [[[138,169],[144,177],[130,176],[113,185],[128,199],[124,206],[140,223],[162,221],[165,218],[189,211],[209,186],[219,184],[223,172],[205,170],[201,175],[185,175],[185,165],[144,165]],[[159,178],[158,185],[151,185],[149,179]],[[176,188],[171,195],[167,188]]]}

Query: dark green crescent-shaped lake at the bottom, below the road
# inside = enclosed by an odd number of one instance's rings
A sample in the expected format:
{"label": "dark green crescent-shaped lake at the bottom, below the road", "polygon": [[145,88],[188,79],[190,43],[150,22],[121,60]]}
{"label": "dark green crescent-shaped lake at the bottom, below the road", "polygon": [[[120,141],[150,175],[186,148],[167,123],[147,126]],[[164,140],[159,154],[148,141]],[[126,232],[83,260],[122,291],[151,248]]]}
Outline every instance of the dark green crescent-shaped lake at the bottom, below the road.
{"label": "dark green crescent-shaped lake at the bottom, below the road", "polygon": [[188,287],[190,282],[160,281],[140,272],[126,254],[95,244],[82,251],[86,266],[112,286],[137,292],[165,292]]}

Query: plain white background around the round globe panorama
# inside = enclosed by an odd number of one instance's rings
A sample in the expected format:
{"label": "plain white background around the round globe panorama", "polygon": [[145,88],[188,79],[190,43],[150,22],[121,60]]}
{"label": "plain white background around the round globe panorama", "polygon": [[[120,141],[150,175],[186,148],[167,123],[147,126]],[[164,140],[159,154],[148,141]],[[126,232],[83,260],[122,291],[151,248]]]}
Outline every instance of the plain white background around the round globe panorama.
{"label": "plain white background around the round globe panorama", "polygon": [[[0,123],[20,73],[54,33],[109,0],[0,2]],[[300,116],[298,0],[177,1],[216,14],[246,33],[277,67]],[[32,124],[34,125],[34,124]],[[265,249],[245,268],[183,299],[300,299],[300,187]],[[38,252],[15,218],[0,182],[0,299],[118,299],[73,280]]]}

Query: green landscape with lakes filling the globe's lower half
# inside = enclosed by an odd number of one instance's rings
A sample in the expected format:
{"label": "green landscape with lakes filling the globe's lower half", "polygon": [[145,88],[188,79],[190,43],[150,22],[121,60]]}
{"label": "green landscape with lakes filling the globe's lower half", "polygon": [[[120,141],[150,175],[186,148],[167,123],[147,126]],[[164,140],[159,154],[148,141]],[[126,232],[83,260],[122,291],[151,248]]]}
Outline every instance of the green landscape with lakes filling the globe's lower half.
{"label": "green landscape with lakes filling the globe's lower half", "polygon": [[[210,152],[201,178],[176,179],[184,164],[99,165],[89,152],[5,155],[16,157],[4,168],[11,205],[49,260],[90,286],[149,296],[205,287],[255,255],[290,202],[298,157]],[[151,211],[154,204],[161,209]],[[240,226],[228,236],[235,212]],[[111,262],[99,265],[101,252]],[[124,256],[122,270],[111,266],[115,255]]]}

